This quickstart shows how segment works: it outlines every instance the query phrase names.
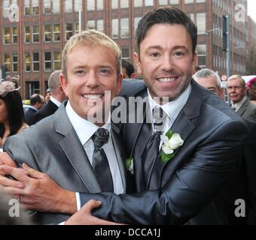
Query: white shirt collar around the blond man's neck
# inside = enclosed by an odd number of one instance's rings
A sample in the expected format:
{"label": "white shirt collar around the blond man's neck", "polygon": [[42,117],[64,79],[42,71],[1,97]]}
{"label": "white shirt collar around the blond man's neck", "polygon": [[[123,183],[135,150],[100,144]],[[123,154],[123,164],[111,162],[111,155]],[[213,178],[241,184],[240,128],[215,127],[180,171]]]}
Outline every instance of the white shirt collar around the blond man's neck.
{"label": "white shirt collar around the blond man's neck", "polygon": [[[91,136],[96,132],[96,130],[99,128],[96,124],[93,124],[92,122],[81,118],[80,115],[75,113],[75,111],[72,109],[71,104],[68,102],[66,105],[66,113],[69,117],[69,120],[71,121],[72,126],[75,129],[75,132],[78,135],[78,138],[80,139],[82,145],[84,145]],[[111,132],[111,122],[110,122],[111,116],[109,115],[108,121],[102,126],[105,129]]]}

